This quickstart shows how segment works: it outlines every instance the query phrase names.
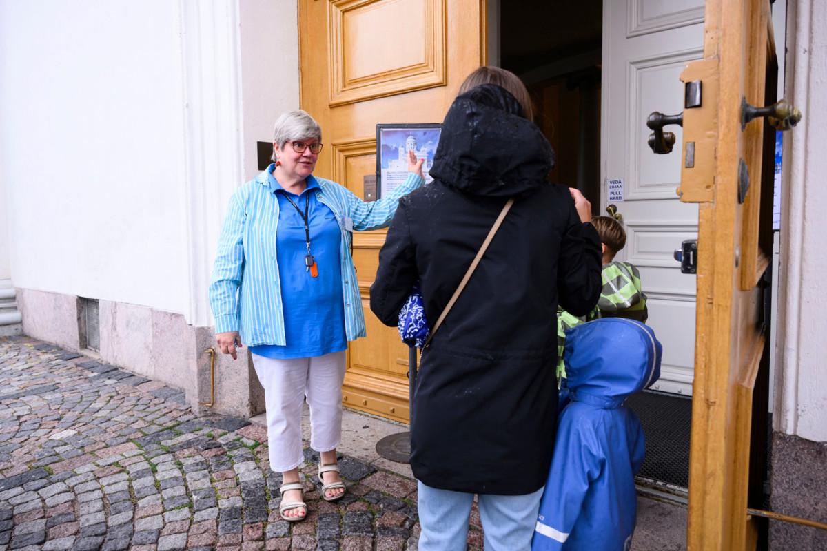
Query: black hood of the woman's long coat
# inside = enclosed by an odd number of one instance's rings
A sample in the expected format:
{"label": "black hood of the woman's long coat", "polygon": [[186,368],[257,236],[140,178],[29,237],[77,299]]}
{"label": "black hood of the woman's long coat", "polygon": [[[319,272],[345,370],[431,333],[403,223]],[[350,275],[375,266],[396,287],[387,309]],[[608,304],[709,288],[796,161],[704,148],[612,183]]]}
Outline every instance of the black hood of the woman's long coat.
{"label": "black hood of the woman's long coat", "polygon": [[546,184],[554,159],[552,146],[523,117],[517,99],[483,84],[448,109],[430,174],[461,192],[511,197]]}

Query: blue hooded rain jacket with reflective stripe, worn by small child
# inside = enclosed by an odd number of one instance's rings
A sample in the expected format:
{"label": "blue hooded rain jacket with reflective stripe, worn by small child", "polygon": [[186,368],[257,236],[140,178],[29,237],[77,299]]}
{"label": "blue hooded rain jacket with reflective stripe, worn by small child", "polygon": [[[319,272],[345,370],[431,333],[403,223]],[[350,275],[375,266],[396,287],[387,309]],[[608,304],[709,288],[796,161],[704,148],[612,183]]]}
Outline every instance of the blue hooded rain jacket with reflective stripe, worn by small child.
{"label": "blue hooded rain jacket with reflective stripe, worn by small child", "polygon": [[566,331],[568,405],[557,426],[533,551],[630,549],[643,429],[626,397],[657,381],[661,344],[639,321],[603,318]]}

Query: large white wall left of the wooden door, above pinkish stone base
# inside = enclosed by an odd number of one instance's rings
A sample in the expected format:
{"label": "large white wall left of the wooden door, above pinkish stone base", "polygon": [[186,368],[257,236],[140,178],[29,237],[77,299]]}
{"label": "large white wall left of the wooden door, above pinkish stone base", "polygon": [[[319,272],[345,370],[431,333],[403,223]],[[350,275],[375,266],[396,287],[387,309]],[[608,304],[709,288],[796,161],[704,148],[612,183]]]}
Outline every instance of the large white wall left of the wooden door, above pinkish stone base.
{"label": "large white wall left of the wooden door, above pinkish stone base", "polygon": [[210,325],[229,195],[299,107],[297,19],[296,0],[0,0],[0,278]]}

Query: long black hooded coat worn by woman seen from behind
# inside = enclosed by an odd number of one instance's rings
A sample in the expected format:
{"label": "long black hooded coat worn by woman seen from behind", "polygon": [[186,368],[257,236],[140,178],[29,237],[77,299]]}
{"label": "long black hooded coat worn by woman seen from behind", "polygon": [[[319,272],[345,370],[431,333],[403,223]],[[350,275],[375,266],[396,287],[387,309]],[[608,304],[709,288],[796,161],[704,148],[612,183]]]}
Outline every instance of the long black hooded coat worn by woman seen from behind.
{"label": "long black hooded coat worn by woman seen from behind", "polygon": [[508,197],[514,206],[419,367],[411,467],[430,487],[522,495],[546,481],[557,427],[557,302],[600,296],[600,240],[563,186],[551,145],[519,102],[485,84],[457,97],[434,182],[402,197],[370,309],[396,325],[419,282],[433,327]]}

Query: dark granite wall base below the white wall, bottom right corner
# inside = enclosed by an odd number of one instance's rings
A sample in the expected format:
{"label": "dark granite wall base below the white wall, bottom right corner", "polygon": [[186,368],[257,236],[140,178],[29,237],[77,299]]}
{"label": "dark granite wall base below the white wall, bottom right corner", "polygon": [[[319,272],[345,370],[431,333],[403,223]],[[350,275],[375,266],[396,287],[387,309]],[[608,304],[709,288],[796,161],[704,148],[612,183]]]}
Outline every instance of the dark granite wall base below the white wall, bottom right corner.
{"label": "dark granite wall base below the white wall, bottom right corner", "polygon": [[[827,443],[772,433],[772,511],[827,523]],[[827,530],[770,521],[773,551],[827,549]]]}

